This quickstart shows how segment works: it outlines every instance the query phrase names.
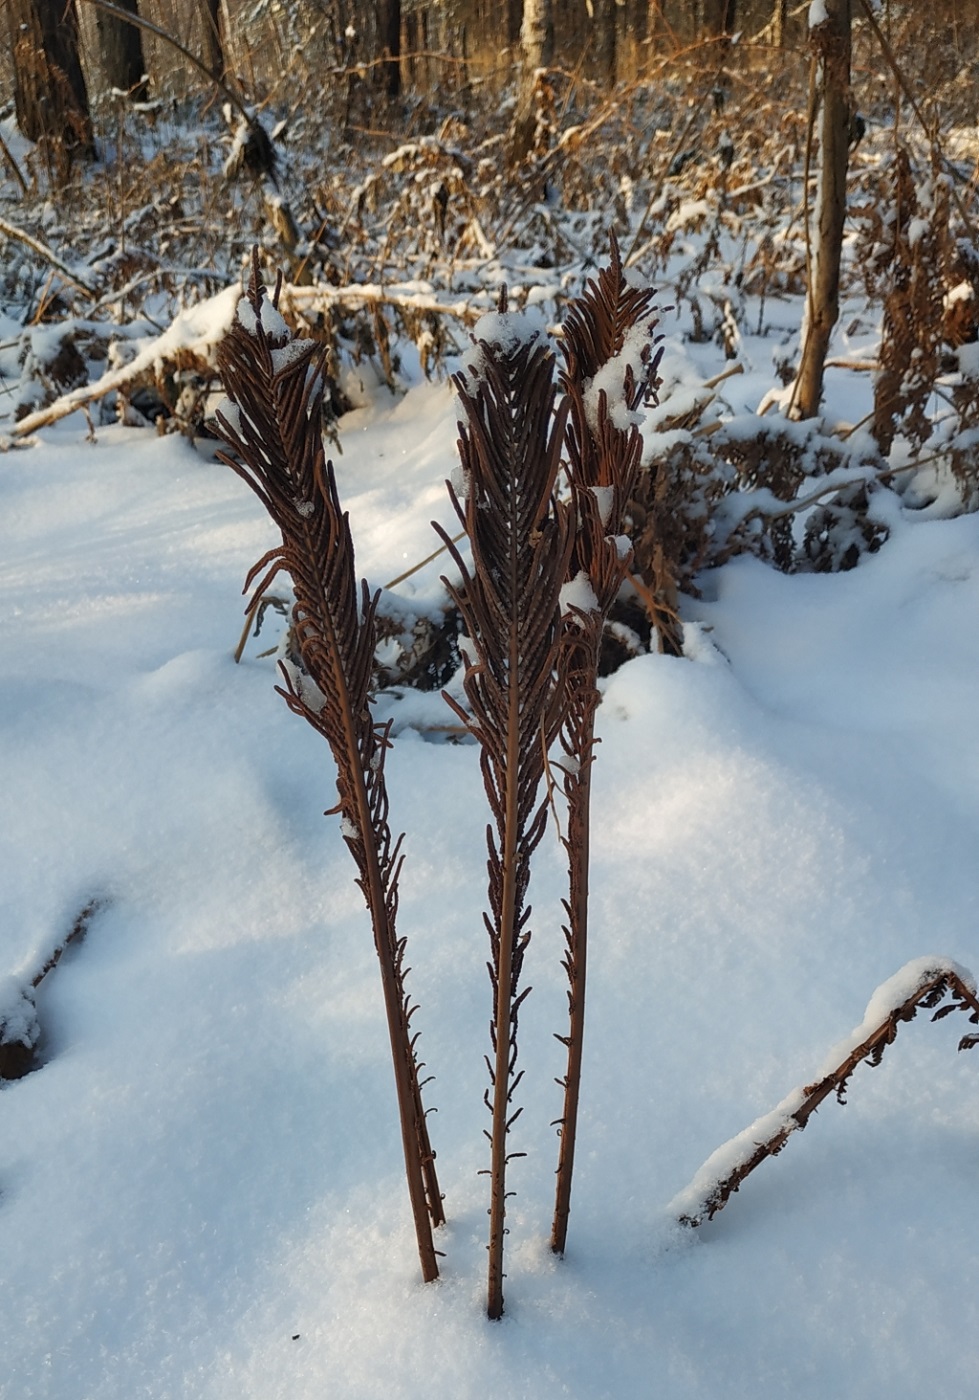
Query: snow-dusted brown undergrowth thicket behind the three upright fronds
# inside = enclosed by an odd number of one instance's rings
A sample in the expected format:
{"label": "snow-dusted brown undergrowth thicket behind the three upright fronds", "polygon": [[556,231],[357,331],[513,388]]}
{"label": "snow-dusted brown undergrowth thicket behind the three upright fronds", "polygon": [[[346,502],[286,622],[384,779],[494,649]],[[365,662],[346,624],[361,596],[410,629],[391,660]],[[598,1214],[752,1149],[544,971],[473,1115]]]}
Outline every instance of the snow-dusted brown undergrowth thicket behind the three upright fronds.
{"label": "snow-dusted brown undergrowth thicket behind the three upright fronds", "polygon": [[[503,283],[514,309],[560,322],[612,225],[685,353],[650,420],[655,470],[627,508],[633,591],[609,619],[604,666],[650,636],[678,650],[682,594],[735,552],[847,568],[887,536],[881,486],[945,511],[979,503],[975,84],[951,41],[936,67],[917,38],[892,34],[885,62],[873,28],[854,29],[861,118],[829,365],[873,377],[866,421],[791,421],[814,197],[804,52],[744,43],[650,52],[612,95],[548,71],[517,168],[504,76],[485,71],[447,85],[451,102],[413,90],[392,106],[356,64],[317,102],[290,87],[298,60],[279,85],[266,64],[245,108],[266,161],[248,158],[238,112],[186,94],[141,112],[102,97],[102,160],[67,179],[13,133],[0,155],[24,189],[11,175],[0,200],[0,433],[17,441],[74,391],[94,431],[122,417],[207,434],[217,337],[171,335],[148,363],[137,351],[238,281],[254,245],[286,272],[290,323],[329,351],[329,426],[352,367],[395,392],[416,365],[450,372]],[[866,350],[847,353],[853,342]],[[735,375],[758,372],[759,346],[769,392],[745,405]]]}

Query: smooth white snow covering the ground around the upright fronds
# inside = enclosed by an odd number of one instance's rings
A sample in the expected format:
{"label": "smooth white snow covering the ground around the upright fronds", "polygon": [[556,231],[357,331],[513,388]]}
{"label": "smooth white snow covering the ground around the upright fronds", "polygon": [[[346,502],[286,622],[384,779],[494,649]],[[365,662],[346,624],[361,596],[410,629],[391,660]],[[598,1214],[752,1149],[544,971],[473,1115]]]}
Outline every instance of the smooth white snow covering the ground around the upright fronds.
{"label": "smooth white snow covering the ground around the upright fronds", "polygon": [[[340,438],[380,585],[450,522],[451,391],[370,393]],[[903,1026],[713,1222],[668,1214],[903,963],[979,966],[979,517],[881,500],[891,539],[854,571],[735,560],[688,608],[686,659],[605,686],[569,1253],[548,1250],[550,836],[493,1324],[476,750],[441,741],[438,696],[385,700],[450,1219],[426,1287],[368,918],[322,816],[331,757],[275,694],[272,620],[232,659],[270,526],[182,438],[92,444],[76,414],[0,456],[0,981],[29,981],[102,902],[39,991],[42,1068],[0,1092],[3,1400],[975,1392],[965,1018]],[[430,601],[444,567],[401,591]]]}

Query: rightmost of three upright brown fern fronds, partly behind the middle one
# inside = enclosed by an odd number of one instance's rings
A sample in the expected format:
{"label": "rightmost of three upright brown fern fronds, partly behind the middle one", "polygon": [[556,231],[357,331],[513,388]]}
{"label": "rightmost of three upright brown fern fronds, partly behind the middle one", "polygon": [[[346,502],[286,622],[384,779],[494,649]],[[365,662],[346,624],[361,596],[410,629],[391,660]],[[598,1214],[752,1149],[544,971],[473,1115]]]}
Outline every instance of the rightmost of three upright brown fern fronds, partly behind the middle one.
{"label": "rightmost of three upright brown fern fronds, partly behind the middle one", "polygon": [[570,406],[564,433],[567,477],[576,532],[571,542],[566,613],[562,620],[564,713],[560,745],[566,756],[562,784],[567,798],[569,897],[564,900],[564,969],[567,972],[567,1070],[557,1156],[557,1189],[550,1247],[564,1253],[571,1208],[577,1140],[584,1001],[588,948],[588,857],[591,834],[591,766],[598,710],[598,655],[602,630],[632,566],[632,546],[622,535],[626,503],[634,493],[643,440],[639,410],[658,384],[654,353],[654,291],[626,280],[615,235],[611,260],[597,281],[571,302],[564,319],[564,370]]}

